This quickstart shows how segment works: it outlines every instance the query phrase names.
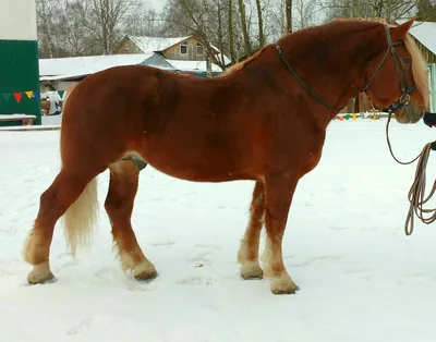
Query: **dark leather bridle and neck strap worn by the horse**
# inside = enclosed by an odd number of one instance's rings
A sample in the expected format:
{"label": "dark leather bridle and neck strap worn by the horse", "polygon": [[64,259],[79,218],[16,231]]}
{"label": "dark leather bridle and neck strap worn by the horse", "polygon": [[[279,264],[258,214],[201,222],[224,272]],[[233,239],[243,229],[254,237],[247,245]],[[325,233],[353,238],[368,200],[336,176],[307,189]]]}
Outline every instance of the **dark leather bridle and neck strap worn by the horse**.
{"label": "dark leather bridle and neck strap worn by the horse", "polygon": [[[366,86],[363,89],[361,89],[359,93],[367,91],[367,89],[370,88],[371,82],[374,80],[375,75],[379,72],[379,70],[382,69],[382,65],[385,63],[385,61],[390,52],[393,58],[393,63],[395,63],[396,72],[398,75],[398,80],[400,82],[402,95],[396,102],[384,108],[383,111],[393,113],[393,112],[399,111],[400,109],[402,109],[404,106],[407,106],[409,103],[410,94],[412,94],[416,89],[416,86],[415,85],[413,85],[411,87],[408,86],[408,80],[405,77],[405,72],[404,72],[404,69],[402,68],[400,57],[398,56],[397,50],[396,50],[396,47],[404,44],[404,40],[392,41],[392,38],[390,37],[390,27],[389,26],[385,26],[385,32],[386,32],[386,40],[388,42],[388,48],[386,49],[386,53],[384,54],[382,61],[378,63],[374,73],[371,75],[368,82],[366,83]],[[342,108],[337,108],[337,107],[332,107],[332,106],[328,105],[316,93],[314,93],[303,80],[300,78],[300,76],[295,73],[295,71],[291,68],[291,65],[289,65],[289,63],[284,59],[283,51],[281,50],[281,46],[278,42],[276,44],[276,49],[280,56],[280,59],[287,65],[287,68],[292,73],[294,78],[300,83],[302,88],[305,89],[313,99],[315,99],[318,103],[323,105],[324,107],[326,107],[330,110],[341,110],[342,109]],[[408,109],[408,107],[407,107],[407,109]]]}

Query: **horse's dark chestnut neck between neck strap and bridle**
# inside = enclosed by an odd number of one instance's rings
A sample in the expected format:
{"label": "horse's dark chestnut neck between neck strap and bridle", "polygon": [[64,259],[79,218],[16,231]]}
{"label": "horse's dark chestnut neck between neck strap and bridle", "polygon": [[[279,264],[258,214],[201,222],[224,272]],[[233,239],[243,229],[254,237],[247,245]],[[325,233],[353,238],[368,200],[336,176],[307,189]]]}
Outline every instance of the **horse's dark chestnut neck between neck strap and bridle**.
{"label": "horse's dark chestnut neck between neck strap and bridle", "polygon": [[[325,38],[319,45],[313,41],[313,39],[319,40],[316,35],[306,35],[306,37],[302,35],[295,37],[294,41],[292,37],[289,37],[290,41],[287,46],[283,41],[284,56],[289,56],[291,65],[295,66],[296,72],[299,69],[304,71],[303,81],[307,82],[325,102],[335,108],[346,107],[353,97],[359,95],[359,90],[364,87],[368,61],[379,46],[380,39],[374,34],[360,30],[351,35],[353,35],[352,39],[343,39],[343,34],[324,34]],[[342,47],[343,41],[350,44],[347,49]],[[295,56],[292,51],[301,51],[301,53]],[[330,121],[335,117],[335,113],[327,108],[323,112],[326,115],[326,118],[319,118],[323,121]],[[317,113],[320,114],[319,111]]]}

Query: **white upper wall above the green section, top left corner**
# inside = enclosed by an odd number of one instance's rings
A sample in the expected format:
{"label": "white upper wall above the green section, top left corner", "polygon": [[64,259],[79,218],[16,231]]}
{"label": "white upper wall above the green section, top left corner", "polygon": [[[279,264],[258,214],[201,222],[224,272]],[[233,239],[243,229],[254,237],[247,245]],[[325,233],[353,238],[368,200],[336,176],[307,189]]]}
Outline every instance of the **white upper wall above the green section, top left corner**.
{"label": "white upper wall above the green section, top left corner", "polygon": [[0,39],[36,40],[35,0],[0,2]]}

